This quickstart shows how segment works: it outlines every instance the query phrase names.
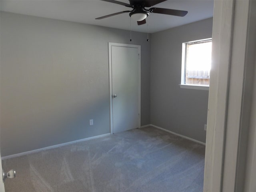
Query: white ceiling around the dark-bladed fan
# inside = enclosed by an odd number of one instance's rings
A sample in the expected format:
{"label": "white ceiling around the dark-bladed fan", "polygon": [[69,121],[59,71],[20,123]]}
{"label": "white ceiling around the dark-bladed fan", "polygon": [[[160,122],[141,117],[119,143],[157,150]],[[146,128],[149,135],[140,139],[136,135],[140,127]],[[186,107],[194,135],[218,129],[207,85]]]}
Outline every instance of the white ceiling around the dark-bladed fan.
{"label": "white ceiling around the dark-bladed fan", "polygon": [[[129,4],[128,0],[119,0]],[[213,16],[213,0],[167,0],[153,7],[186,10],[184,17],[150,13],[148,31],[154,33],[168,28],[203,20]],[[130,30],[129,13],[102,20],[95,18],[131,8],[101,0],[1,0],[0,10],[45,18],[80,22]],[[132,21],[132,30],[147,32],[147,24],[138,26]]]}

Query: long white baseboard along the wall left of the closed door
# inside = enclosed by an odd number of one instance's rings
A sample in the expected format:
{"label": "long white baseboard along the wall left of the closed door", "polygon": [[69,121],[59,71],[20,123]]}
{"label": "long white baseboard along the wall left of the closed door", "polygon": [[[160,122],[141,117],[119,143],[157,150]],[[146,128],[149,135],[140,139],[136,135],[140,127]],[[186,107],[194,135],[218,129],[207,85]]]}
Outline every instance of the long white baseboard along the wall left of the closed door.
{"label": "long white baseboard along the wall left of the closed door", "polygon": [[66,143],[62,143],[62,144],[58,144],[58,145],[52,145],[52,146],[49,146],[49,147],[44,147],[44,148],[40,148],[40,149],[26,151],[26,152],[22,152],[22,153],[18,153],[18,154],[8,155],[8,156],[2,157],[1,159],[5,160],[5,159],[9,159],[9,158],[19,157],[19,156],[22,156],[22,155],[27,155],[27,154],[31,154],[31,153],[35,153],[35,152],[40,152],[40,151],[43,151],[43,150],[53,149],[53,148],[57,148],[57,147],[65,146],[65,145],[70,145],[70,144],[74,144],[74,143],[78,143],[78,142],[82,142],[82,141],[86,141],[86,140],[91,140],[91,139],[95,139],[95,138],[100,138],[100,137],[104,137],[104,136],[108,136],[108,135],[110,135],[110,133],[103,134],[103,135],[98,135],[98,136],[94,136],[94,137],[89,137],[89,138],[84,138],[84,139],[79,139],[79,140],[75,140],[75,141],[70,141],[70,142],[66,142]]}

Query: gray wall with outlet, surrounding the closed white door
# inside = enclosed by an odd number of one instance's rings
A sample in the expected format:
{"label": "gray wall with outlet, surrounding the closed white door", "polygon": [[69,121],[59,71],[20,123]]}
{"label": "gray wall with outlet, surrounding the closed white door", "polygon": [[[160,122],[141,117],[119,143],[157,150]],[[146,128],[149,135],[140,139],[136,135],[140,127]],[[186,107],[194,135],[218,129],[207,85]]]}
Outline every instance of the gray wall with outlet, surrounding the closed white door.
{"label": "gray wall with outlet, surrounding the closed white door", "polygon": [[125,30],[1,12],[0,35],[2,156],[110,132],[108,42],[141,45],[141,124],[150,123],[147,34],[130,42]]}

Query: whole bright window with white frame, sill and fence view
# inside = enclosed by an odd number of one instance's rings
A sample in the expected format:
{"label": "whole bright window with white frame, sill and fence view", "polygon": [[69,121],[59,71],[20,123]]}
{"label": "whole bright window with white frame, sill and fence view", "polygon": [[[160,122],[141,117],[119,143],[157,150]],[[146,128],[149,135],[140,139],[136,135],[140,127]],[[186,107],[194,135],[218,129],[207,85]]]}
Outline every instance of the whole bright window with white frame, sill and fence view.
{"label": "whole bright window with white frame, sill and fence view", "polygon": [[182,88],[209,87],[211,55],[212,39],[182,44]]}

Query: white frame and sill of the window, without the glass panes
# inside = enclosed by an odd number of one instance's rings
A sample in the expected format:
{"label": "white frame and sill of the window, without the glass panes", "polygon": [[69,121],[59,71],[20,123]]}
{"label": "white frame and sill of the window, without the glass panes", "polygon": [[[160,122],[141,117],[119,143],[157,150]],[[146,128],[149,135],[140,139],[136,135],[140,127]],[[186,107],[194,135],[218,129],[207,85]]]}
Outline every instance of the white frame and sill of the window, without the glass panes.
{"label": "white frame and sill of the window, without the glass panes", "polygon": [[189,42],[182,43],[182,65],[181,65],[181,81],[180,88],[186,89],[197,89],[197,90],[209,90],[209,85],[200,85],[200,84],[186,84],[186,52],[187,52],[187,44],[194,42],[204,42],[204,41],[212,41],[212,38],[194,40]]}

